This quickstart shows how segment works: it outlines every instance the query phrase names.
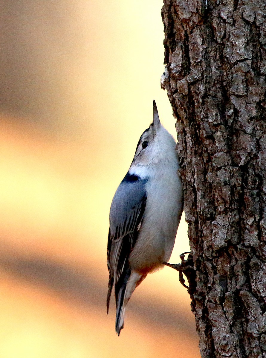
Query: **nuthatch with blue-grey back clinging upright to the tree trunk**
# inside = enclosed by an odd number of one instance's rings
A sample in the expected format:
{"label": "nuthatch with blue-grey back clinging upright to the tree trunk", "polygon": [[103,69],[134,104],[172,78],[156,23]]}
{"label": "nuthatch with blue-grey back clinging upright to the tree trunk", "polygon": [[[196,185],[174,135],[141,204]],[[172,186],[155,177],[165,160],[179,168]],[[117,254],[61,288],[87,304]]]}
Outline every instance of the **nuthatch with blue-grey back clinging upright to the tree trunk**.
{"label": "nuthatch with blue-grey back clinging upright to the tree trunk", "polygon": [[114,286],[118,336],[136,287],[170,259],[183,211],[179,169],[176,142],[162,126],[153,101],[153,121],[138,141],[110,208],[106,305],[108,314]]}

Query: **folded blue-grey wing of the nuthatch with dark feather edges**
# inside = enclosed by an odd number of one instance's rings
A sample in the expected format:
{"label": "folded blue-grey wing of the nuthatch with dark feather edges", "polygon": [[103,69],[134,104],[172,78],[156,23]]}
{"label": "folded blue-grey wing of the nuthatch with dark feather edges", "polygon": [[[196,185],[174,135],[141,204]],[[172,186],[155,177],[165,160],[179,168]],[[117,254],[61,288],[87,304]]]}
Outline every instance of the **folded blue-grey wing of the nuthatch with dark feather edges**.
{"label": "folded blue-grey wing of the nuthatch with dark feather edges", "polygon": [[118,296],[124,295],[125,285],[130,275],[128,258],[134,247],[146,205],[147,179],[127,174],[115,192],[110,209],[110,229],[107,245],[107,265],[109,287],[107,313],[113,283],[117,307]]}

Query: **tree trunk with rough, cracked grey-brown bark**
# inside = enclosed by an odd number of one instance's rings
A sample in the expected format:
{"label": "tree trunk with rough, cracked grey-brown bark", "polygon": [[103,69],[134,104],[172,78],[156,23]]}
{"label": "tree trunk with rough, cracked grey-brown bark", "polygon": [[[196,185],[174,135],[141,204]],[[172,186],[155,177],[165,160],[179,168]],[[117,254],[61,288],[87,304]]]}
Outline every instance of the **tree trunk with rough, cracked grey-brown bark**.
{"label": "tree trunk with rough, cracked grey-brown bark", "polygon": [[164,0],[202,357],[266,357],[266,1]]}

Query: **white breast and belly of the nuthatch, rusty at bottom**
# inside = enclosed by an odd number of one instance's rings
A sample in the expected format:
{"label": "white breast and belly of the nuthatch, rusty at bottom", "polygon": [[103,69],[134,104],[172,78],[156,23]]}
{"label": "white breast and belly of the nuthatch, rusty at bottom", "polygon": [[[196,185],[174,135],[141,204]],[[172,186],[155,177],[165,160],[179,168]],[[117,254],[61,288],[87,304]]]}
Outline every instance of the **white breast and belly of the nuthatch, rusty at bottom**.
{"label": "white breast and belly of the nuthatch, rusty at bottom", "polygon": [[134,271],[151,271],[168,261],[182,214],[179,165],[165,165],[146,184],[147,202],[136,245],[129,256]]}

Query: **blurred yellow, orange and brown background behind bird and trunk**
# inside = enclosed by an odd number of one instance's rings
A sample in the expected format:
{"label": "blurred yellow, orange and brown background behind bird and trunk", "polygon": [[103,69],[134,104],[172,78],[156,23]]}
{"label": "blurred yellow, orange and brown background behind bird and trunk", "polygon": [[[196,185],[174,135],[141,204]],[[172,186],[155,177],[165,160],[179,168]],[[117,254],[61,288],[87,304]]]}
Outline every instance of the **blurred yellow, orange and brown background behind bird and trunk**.
{"label": "blurred yellow, orange and brown background behind bird and trunk", "polygon": [[[1,0],[0,358],[200,357],[178,272],[149,275],[115,334],[111,200],[152,121],[176,137],[162,1]],[[189,251],[182,218],[170,262]]]}

